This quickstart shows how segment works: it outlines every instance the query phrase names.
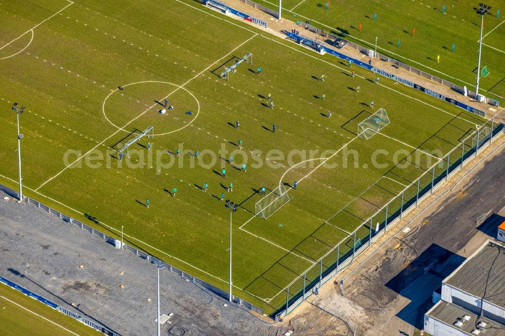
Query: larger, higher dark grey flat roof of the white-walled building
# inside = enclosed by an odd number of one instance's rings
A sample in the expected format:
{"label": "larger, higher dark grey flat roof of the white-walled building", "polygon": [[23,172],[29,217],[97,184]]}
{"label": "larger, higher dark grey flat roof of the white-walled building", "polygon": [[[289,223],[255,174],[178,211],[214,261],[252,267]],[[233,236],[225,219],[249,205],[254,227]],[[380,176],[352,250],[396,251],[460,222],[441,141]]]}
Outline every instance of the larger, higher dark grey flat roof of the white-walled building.
{"label": "larger, higher dark grey flat roof of the white-walled building", "polygon": [[488,242],[444,283],[505,308],[505,248]]}

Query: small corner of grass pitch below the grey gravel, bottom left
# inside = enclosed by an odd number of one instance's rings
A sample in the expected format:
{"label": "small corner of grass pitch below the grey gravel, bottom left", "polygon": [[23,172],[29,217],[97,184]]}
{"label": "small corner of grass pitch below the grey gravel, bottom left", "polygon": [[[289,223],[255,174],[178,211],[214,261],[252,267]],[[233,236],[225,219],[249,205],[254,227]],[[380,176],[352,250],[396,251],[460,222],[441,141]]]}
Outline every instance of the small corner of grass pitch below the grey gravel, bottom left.
{"label": "small corner of grass pitch below the grey gravel, bottom left", "polygon": [[[2,335],[99,335],[89,326],[0,284]],[[36,330],[36,331],[34,331]]]}

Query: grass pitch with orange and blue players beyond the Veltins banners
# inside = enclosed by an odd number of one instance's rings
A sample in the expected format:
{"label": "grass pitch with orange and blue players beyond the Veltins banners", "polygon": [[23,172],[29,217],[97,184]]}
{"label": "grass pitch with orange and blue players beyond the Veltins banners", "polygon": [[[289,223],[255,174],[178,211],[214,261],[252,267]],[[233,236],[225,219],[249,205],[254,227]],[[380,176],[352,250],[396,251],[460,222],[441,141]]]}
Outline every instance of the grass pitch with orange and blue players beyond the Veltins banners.
{"label": "grass pitch with orange and blue players beyond the Veltins banners", "polygon": [[[278,10],[277,1],[258,0],[257,3]],[[503,104],[505,24],[502,13],[496,17],[497,10],[504,11],[503,2],[491,0],[485,4],[491,10],[484,18],[481,69],[487,66],[491,73],[481,77],[479,93]],[[474,8],[478,6],[479,2],[468,0],[357,0],[330,1],[330,10],[326,11],[326,1],[283,0],[282,16],[293,22],[309,20],[317,28],[371,49],[375,48],[375,37],[378,37],[378,52],[475,91],[481,16]],[[305,34],[303,29],[300,34]]]}

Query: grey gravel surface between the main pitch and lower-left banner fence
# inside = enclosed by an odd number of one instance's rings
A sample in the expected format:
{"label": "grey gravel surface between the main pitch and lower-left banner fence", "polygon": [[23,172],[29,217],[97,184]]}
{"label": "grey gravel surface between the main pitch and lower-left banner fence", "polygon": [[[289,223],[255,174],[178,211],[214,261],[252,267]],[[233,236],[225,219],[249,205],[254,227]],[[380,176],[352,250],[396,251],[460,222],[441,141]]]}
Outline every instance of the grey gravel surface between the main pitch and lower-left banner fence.
{"label": "grey gravel surface between the main pitch and lower-left banner fence", "polygon": [[[0,196],[0,275],[120,334],[157,333],[154,264],[34,205],[3,200],[3,192]],[[162,325],[162,335],[287,331],[243,308],[224,307],[226,300],[167,269],[160,271],[160,290],[161,313],[174,313],[172,323]]]}

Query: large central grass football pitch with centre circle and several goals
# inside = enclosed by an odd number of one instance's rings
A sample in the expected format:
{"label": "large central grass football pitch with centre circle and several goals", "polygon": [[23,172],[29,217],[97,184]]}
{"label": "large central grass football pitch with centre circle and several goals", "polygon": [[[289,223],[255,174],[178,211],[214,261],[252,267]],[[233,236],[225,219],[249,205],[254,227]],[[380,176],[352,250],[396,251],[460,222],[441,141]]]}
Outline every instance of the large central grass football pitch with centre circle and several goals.
{"label": "large central grass football pitch with centre circle and several goals", "polygon": [[[123,226],[128,244],[226,290],[224,193],[240,204],[232,225],[234,294],[266,313],[283,305],[287,286],[296,294],[300,275],[319,270],[337,244],[342,255],[352,249],[349,233],[486,122],[393,81],[376,85],[365,70],[352,77],[331,55],[262,36],[195,2],[68,4],[0,5],[9,22],[0,45],[14,40],[0,49],[0,180],[16,188],[10,109],[17,101],[27,106],[20,117],[25,194],[109,235]],[[230,81],[218,77],[247,52],[252,67],[240,64]],[[174,109],[161,115],[156,101],[165,97]],[[391,123],[364,140],[358,124],[372,113],[371,100]],[[142,138],[119,162],[121,144],[147,126],[154,127],[151,147]],[[436,175],[444,171],[437,167]],[[288,185],[290,201],[266,220],[255,216],[258,190],[279,184]],[[330,253],[323,266],[335,259]]]}

